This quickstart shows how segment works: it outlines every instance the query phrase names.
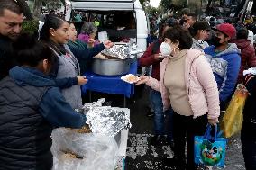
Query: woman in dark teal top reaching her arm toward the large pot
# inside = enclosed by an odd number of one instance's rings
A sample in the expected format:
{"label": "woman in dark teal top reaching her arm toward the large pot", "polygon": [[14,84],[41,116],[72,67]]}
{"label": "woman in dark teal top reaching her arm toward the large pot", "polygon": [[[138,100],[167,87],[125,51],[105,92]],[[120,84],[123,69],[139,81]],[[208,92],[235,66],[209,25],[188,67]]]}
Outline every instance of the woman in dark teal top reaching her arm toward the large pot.
{"label": "woman in dark teal top reaching her arm toward the large pot", "polygon": [[92,59],[105,58],[103,55],[99,54],[105,48],[110,48],[113,43],[106,40],[105,43],[100,43],[93,48],[87,48],[87,43],[78,40],[77,31],[74,23],[69,22],[69,41],[68,46],[74,56],[78,59],[80,64],[81,74],[85,74],[87,67],[90,66]]}

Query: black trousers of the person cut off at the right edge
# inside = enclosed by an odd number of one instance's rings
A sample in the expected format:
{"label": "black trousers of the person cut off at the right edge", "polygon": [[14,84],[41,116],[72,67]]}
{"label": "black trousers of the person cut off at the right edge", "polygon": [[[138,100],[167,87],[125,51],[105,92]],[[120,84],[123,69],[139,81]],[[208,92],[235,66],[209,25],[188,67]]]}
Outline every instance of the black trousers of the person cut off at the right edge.
{"label": "black trousers of the person cut off at the right edge", "polygon": [[241,130],[242,155],[246,170],[256,170],[256,124],[243,122]]}

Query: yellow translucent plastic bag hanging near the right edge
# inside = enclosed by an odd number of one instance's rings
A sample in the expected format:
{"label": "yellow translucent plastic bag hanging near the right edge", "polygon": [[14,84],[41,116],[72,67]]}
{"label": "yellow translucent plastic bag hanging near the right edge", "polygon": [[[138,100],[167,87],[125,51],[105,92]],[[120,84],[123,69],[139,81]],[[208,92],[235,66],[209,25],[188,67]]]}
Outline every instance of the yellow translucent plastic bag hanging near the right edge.
{"label": "yellow translucent plastic bag hanging near the right edge", "polygon": [[244,85],[237,85],[232,100],[224,112],[224,117],[221,121],[221,130],[223,130],[225,138],[230,138],[242,129],[242,112],[248,94]]}

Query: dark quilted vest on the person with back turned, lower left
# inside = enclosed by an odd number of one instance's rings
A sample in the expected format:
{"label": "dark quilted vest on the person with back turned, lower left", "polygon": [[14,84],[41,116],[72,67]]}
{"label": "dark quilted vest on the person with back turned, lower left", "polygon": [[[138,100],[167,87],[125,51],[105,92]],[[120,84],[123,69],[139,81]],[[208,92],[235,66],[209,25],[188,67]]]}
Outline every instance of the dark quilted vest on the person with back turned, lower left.
{"label": "dark quilted vest on the person with back turned, lower left", "polygon": [[48,87],[0,81],[0,170],[50,170],[52,126],[38,111]]}

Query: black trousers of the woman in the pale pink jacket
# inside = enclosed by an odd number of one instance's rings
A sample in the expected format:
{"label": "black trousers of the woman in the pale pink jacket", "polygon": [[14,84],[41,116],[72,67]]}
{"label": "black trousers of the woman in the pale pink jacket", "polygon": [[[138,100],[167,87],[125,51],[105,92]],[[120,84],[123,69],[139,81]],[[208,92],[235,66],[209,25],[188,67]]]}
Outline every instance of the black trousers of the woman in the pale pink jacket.
{"label": "black trousers of the woman in the pale pink jacket", "polygon": [[[178,160],[179,165],[186,165],[187,170],[197,169],[197,165],[194,163],[194,137],[205,134],[207,122],[207,114],[193,119],[193,116],[173,113],[174,157]],[[185,157],[186,141],[187,164]]]}

